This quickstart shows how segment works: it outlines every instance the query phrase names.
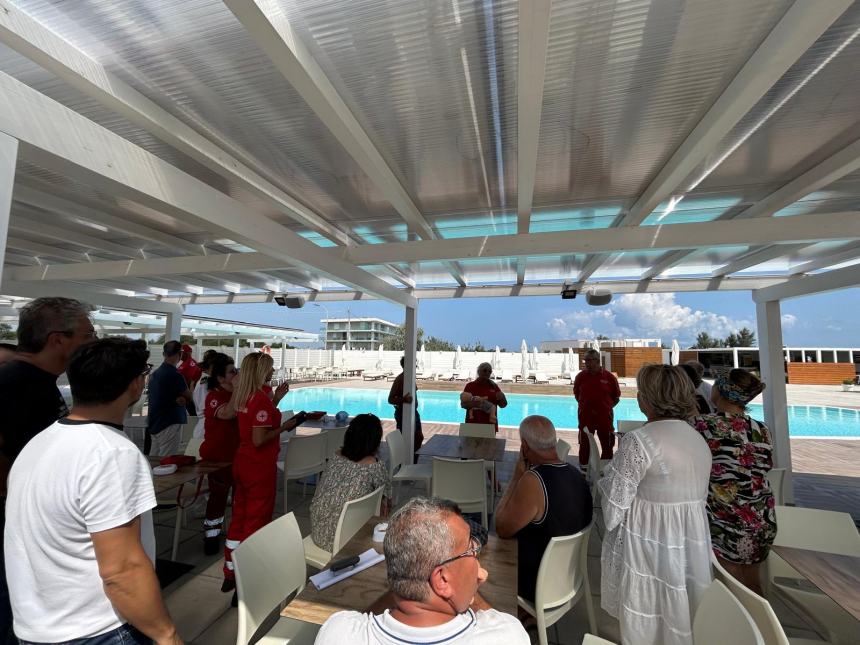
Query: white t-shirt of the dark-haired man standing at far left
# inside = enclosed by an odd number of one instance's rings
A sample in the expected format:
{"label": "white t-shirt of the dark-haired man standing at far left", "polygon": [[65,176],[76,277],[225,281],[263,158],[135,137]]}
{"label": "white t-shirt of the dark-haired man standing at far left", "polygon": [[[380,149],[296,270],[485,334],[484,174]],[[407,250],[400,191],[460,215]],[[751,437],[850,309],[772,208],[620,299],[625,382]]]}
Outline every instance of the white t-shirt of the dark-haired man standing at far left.
{"label": "white t-shirt of the dark-haired man standing at far left", "polygon": [[155,562],[149,463],[121,428],[61,419],[36,435],[9,474],[6,579],[18,638],[56,643],[127,622],[105,595],[90,533],[140,516]]}

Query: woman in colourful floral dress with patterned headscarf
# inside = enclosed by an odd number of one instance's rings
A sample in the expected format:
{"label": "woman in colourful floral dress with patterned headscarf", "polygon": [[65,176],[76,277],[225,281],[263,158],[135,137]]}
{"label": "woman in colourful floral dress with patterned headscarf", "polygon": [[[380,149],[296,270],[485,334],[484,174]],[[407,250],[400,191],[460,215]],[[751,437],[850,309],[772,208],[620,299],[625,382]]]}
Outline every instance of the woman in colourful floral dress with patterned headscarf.
{"label": "woman in colourful floral dress with patterned headscarf", "polygon": [[776,537],[774,497],[767,480],[773,446],[767,427],[746,414],[762,390],[754,374],[734,369],[711,390],[715,414],[695,417],[693,427],[711,449],[708,519],[720,564],[761,595],[759,567]]}

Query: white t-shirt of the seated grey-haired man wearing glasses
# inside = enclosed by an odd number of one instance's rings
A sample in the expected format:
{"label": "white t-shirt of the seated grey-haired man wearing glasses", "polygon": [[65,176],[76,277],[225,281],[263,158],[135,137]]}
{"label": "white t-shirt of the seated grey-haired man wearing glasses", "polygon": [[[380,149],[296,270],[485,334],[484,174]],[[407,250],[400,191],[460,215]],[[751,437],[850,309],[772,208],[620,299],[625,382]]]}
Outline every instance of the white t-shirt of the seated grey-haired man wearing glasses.
{"label": "white t-shirt of the seated grey-haired man wearing glasses", "polygon": [[317,634],[315,645],[529,645],[526,630],[516,618],[495,609],[455,616],[435,627],[410,627],[391,617],[388,610],[378,616],[357,611],[339,611]]}

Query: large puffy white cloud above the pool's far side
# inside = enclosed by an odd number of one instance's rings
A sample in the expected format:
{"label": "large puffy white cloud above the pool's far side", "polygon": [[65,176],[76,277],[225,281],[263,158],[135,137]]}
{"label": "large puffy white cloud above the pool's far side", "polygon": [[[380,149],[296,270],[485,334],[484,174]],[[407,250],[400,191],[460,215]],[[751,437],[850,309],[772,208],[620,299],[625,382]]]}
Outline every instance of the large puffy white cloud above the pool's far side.
{"label": "large puffy white cloud above the pool's far side", "polygon": [[749,320],[681,305],[673,293],[643,293],[624,294],[606,307],[589,307],[553,318],[547,327],[556,338],[604,334],[611,338],[661,338],[667,344],[677,338],[682,345],[689,345],[700,331],[722,338],[754,325]]}

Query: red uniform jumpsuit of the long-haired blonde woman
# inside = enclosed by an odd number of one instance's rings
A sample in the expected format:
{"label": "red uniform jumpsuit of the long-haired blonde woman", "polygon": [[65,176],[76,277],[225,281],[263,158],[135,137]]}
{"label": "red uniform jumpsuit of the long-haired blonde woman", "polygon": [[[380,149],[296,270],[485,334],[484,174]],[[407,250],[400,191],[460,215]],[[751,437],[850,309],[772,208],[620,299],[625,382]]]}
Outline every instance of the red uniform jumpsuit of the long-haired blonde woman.
{"label": "red uniform jumpsuit of the long-haired blonde woman", "polygon": [[234,577],[233,549],[272,521],[281,450],[281,442],[277,439],[257,448],[251,438],[254,427],[281,425],[280,410],[262,390],[248,399],[238,419],[239,449],[233,460],[233,517],[224,542],[224,577],[227,579]]}

